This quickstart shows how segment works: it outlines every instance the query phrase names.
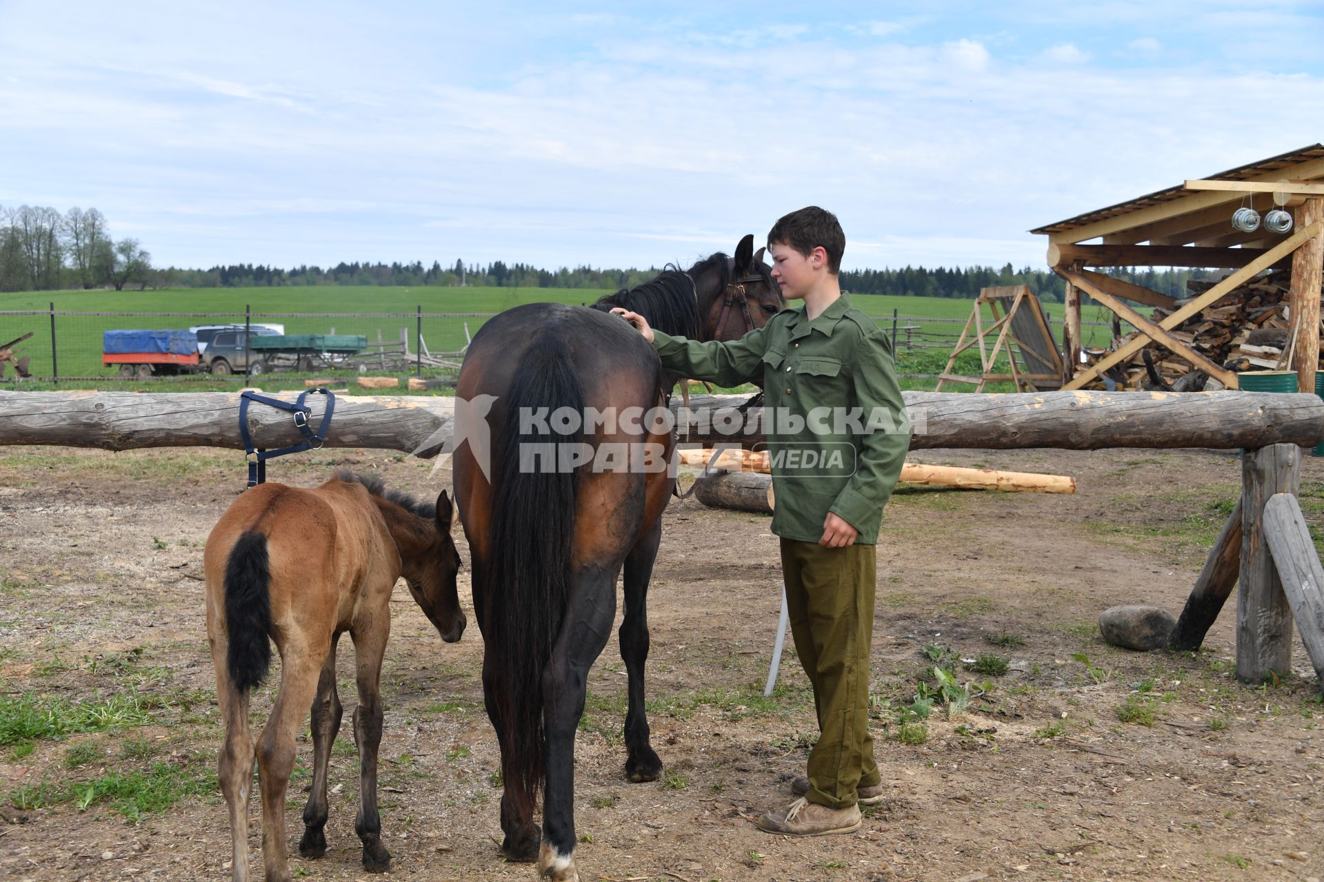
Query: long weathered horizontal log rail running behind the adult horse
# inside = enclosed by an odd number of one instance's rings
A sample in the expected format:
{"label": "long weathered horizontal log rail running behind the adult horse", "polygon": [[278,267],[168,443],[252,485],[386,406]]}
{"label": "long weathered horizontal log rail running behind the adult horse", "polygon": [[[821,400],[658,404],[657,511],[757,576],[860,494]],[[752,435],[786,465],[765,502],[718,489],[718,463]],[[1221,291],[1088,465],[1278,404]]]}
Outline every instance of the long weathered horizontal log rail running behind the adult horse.
{"label": "long weathered horizontal log rail running behind the adult horse", "polygon": [[[293,401],[294,394],[273,397]],[[1324,440],[1324,401],[1298,393],[1046,391],[904,393],[912,450],[1107,447],[1218,450]],[[695,395],[690,440],[752,446],[764,440],[761,409],[740,414],[745,395]],[[244,448],[237,393],[0,391],[0,444]],[[324,401],[308,399],[312,422]],[[673,411],[682,402],[674,398]],[[433,456],[449,439],[455,399],[432,395],[339,395],[327,447],[377,447]],[[254,440],[269,448],[302,440],[286,411],[249,409]]]}

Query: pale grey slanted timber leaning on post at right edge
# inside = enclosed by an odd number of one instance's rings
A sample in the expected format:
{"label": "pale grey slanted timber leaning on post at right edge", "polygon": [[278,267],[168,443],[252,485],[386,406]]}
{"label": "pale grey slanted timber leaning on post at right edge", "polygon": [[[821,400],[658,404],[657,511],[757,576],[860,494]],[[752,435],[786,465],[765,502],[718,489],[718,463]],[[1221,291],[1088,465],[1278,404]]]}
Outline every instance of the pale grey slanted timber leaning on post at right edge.
{"label": "pale grey slanted timber leaning on post at right edge", "polygon": [[1264,541],[1274,553],[1315,677],[1324,686],[1324,567],[1295,496],[1270,497],[1264,505]]}

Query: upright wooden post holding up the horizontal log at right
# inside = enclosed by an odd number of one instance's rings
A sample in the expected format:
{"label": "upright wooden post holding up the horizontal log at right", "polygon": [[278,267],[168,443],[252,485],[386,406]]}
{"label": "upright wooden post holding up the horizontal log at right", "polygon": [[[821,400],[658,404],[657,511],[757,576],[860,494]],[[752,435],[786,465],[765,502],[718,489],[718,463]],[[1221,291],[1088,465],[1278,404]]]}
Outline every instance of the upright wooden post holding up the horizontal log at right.
{"label": "upright wooden post holding up the horizontal log at right", "polygon": [[1259,684],[1292,666],[1292,611],[1264,541],[1264,504],[1275,493],[1296,496],[1301,448],[1271,444],[1242,452],[1241,591],[1237,596],[1237,678]]}

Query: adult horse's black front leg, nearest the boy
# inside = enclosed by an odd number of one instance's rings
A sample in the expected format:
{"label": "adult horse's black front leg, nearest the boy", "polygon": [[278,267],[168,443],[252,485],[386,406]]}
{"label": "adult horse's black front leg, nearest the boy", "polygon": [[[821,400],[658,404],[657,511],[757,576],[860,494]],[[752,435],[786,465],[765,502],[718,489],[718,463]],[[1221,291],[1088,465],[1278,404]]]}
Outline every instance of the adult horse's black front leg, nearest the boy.
{"label": "adult horse's black front leg, nearest the boy", "polygon": [[643,710],[643,661],[649,657],[649,579],[662,541],[662,518],[625,558],[625,619],[621,621],[621,659],[629,673],[630,705],[625,713],[625,774],[632,782],[655,782],[662,760],[649,744],[649,718]]}

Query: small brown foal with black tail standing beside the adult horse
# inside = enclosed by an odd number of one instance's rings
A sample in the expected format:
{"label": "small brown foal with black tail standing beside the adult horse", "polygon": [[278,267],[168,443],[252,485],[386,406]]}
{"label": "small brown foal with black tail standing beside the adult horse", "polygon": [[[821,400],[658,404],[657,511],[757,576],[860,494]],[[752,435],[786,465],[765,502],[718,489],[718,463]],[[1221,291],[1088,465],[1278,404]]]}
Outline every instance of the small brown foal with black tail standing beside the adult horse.
{"label": "small brown foal with black tail standing beside the adult horse", "polygon": [[[294,735],[312,707],[312,787],[303,809],[299,854],[326,853],[327,759],[340,729],[335,649],[354,640],[359,706],[359,816],[363,866],[391,866],[377,813],[377,680],[391,633],[391,592],[401,577],[442,640],[465,629],[455,594],[459,553],[450,540],[451,505],[385,492],[376,477],[340,472],[315,489],[261,484],[240,496],[207,540],[207,639],[225,721],[220,783],[230,815],[233,879],[248,882],[248,801],[257,756],[262,791],[262,860],[269,882],[286,882],[285,795]],[[281,690],[256,750],[249,696],[281,653]]]}

